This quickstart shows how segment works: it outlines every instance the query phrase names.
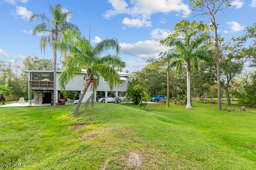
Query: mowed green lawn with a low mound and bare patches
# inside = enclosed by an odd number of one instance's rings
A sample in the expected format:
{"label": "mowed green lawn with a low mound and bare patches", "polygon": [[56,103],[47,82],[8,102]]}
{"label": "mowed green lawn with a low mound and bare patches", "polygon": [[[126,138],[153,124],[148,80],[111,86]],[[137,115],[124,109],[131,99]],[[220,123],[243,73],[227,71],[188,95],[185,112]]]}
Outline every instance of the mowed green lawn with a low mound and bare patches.
{"label": "mowed green lawn with a low mound and bare patches", "polygon": [[[94,104],[0,107],[0,165],[23,169],[256,169],[256,109]],[[10,169],[15,169],[11,167]],[[17,168],[18,169],[18,168]]]}

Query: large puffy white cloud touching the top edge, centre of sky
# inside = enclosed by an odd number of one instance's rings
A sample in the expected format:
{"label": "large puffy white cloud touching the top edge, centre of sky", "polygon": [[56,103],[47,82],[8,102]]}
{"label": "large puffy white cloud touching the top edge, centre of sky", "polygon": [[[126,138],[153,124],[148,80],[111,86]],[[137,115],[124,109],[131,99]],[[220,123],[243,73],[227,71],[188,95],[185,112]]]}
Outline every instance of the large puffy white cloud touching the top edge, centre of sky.
{"label": "large puffy white cloud touching the top edge, centre of sky", "polygon": [[[168,14],[172,11],[182,13],[183,17],[190,15],[191,10],[183,0],[130,0],[127,4],[124,0],[108,0],[113,9],[107,10],[104,18],[109,19],[118,14],[128,14],[131,19],[124,18],[122,21],[129,27],[150,27],[150,16],[156,13]],[[131,23],[130,23],[131,22]]]}

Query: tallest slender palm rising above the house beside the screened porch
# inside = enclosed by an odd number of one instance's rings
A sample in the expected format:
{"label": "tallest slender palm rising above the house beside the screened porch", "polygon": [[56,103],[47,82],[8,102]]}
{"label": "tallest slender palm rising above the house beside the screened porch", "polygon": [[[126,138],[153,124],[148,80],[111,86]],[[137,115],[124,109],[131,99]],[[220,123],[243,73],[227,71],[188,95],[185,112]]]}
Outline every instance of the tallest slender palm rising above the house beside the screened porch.
{"label": "tallest slender palm rising above the house beside the screened porch", "polygon": [[[60,35],[67,28],[78,29],[76,25],[69,23],[68,18],[72,15],[72,12],[64,12],[61,4],[56,4],[54,7],[49,4],[49,11],[52,14],[52,20],[46,17],[45,14],[32,14],[30,16],[30,22],[34,20],[41,20],[42,23],[36,25],[32,31],[32,35],[38,35],[43,33],[40,39],[41,52],[45,49],[47,45],[52,46],[54,41],[60,41]],[[56,65],[57,65],[57,50],[53,48],[54,51],[54,101],[56,101]],[[54,102],[54,106],[56,103]]]}

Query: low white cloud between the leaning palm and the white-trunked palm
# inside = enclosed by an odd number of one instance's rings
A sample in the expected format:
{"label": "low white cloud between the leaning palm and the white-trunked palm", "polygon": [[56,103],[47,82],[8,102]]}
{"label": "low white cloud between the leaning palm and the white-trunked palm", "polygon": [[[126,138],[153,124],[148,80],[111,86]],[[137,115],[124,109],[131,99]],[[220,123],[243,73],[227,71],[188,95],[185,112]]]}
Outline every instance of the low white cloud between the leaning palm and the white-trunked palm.
{"label": "low white cloud between the leaning palm and the white-trunked palm", "polygon": [[164,50],[163,47],[160,47],[159,41],[155,40],[139,41],[133,44],[120,43],[120,46],[120,53],[134,57],[141,57],[144,60],[153,56],[158,57],[159,53]]}

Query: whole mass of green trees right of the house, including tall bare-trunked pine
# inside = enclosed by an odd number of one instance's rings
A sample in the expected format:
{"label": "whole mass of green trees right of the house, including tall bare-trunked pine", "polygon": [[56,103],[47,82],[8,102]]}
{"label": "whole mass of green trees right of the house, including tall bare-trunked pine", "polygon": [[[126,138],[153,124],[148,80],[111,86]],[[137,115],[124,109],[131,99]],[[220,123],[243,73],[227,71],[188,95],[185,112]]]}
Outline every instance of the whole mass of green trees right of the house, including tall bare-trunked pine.
{"label": "whole mass of green trees right of the house, including tall bare-trunked pine", "polygon": [[[231,105],[231,95],[238,98],[240,104],[255,106],[255,72],[249,71],[244,64],[251,63],[252,68],[256,63],[256,24],[247,27],[245,35],[226,41],[218,35],[215,14],[229,7],[229,1],[190,2],[194,4],[193,10],[198,12],[196,15],[209,16],[211,24],[187,20],[176,23],[174,33],[160,41],[167,48],[160,53],[160,59],[149,59],[148,66],[134,72],[133,76],[151,96],[167,94],[169,98],[175,94],[175,98],[185,100],[188,109],[191,109],[192,96],[204,95],[206,100],[209,91],[212,91],[211,98],[217,91],[218,110],[222,110],[223,93],[228,105]],[[246,47],[248,41],[252,43]]]}

